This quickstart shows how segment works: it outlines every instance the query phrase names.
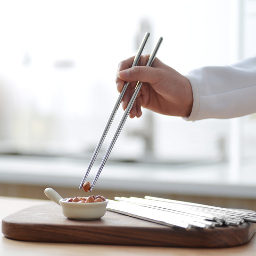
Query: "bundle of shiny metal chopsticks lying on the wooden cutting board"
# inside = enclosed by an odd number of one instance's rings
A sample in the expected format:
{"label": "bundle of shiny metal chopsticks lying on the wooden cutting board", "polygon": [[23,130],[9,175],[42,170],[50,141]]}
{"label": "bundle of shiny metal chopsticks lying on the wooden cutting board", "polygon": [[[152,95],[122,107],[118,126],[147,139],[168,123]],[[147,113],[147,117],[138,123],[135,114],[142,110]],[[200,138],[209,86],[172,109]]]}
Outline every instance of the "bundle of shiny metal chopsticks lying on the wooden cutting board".
{"label": "bundle of shiny metal chopsticks lying on the wooden cutting board", "polygon": [[115,197],[109,200],[107,210],[118,212],[158,224],[193,228],[239,226],[244,222],[256,222],[256,212],[195,204],[152,196]]}

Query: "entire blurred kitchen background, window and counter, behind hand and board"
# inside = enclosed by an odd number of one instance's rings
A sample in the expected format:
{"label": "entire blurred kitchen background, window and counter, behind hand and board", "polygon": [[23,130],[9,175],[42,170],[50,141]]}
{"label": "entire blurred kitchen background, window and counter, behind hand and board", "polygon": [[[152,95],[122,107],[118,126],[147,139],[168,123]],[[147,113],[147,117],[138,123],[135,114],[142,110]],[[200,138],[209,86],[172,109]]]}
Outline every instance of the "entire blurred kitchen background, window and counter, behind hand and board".
{"label": "entire blurred kitchen background, window and counter, behind hand and board", "polygon": [[[116,69],[158,38],[186,74],[256,54],[255,0],[0,0],[0,195],[76,196],[118,97]],[[123,115],[120,108],[92,181]],[[94,188],[256,210],[256,114],[187,122],[127,119]]]}

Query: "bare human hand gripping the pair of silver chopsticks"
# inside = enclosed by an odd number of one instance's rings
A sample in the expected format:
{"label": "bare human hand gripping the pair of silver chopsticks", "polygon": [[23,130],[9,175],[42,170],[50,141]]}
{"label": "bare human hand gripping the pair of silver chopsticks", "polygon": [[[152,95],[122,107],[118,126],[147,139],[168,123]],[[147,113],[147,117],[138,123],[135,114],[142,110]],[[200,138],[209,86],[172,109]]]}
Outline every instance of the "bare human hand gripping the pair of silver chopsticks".
{"label": "bare human hand gripping the pair of silver chopsticks", "polygon": [[125,109],[134,92],[137,81],[143,82],[129,113],[131,118],[142,115],[141,107],[169,116],[189,116],[193,105],[193,93],[187,77],[155,58],[146,67],[149,55],[140,57],[140,66],[132,67],[134,57],[119,63],[116,74],[117,91],[130,82],[122,100]]}

